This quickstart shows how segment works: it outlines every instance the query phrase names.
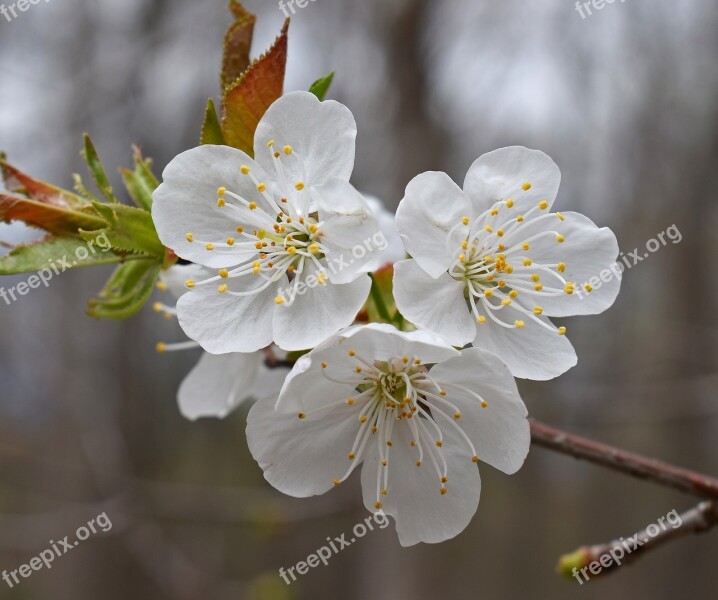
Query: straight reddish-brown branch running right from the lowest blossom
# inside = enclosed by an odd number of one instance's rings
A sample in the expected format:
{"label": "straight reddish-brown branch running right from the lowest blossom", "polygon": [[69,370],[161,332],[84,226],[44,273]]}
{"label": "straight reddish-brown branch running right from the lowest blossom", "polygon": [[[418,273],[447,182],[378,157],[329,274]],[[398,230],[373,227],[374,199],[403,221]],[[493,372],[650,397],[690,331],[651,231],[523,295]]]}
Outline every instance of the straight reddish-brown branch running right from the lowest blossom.
{"label": "straight reddish-brown branch running right from the lowest blossom", "polygon": [[699,498],[718,500],[718,479],[634,454],[550,427],[534,419],[531,439],[537,446],[568,454],[639,479],[647,479]]}

